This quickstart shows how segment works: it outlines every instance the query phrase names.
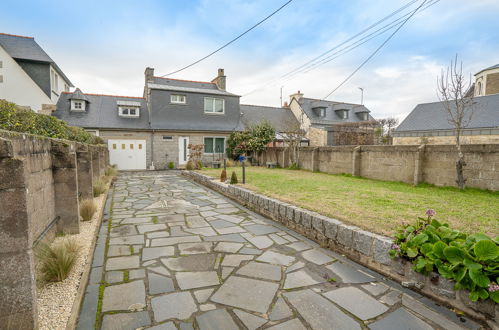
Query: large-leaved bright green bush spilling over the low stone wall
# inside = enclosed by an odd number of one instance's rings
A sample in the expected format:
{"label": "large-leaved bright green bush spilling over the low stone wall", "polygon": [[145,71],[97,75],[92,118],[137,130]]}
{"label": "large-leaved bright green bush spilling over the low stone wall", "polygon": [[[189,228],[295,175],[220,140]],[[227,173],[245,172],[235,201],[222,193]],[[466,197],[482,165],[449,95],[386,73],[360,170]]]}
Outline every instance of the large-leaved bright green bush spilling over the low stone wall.
{"label": "large-leaved bright green bush spilling over the low stone wall", "polygon": [[416,272],[436,271],[454,280],[454,290],[469,290],[472,301],[490,298],[499,303],[499,239],[450,229],[432,219],[433,210],[426,215],[398,231],[390,256],[411,261]]}

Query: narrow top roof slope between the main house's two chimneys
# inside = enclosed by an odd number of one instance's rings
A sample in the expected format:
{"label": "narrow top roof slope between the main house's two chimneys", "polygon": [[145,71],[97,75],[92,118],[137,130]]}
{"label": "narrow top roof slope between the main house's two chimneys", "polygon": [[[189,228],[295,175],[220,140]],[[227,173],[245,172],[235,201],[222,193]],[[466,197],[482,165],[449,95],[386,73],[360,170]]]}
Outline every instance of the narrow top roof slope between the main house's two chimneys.
{"label": "narrow top roof slope between the main house's two chimneys", "polygon": [[154,77],[154,83],[149,83],[148,86],[152,89],[162,89],[169,91],[185,92],[185,93],[203,93],[214,95],[237,96],[236,94],[218,89],[217,85],[205,81],[180,80],[172,78]]}

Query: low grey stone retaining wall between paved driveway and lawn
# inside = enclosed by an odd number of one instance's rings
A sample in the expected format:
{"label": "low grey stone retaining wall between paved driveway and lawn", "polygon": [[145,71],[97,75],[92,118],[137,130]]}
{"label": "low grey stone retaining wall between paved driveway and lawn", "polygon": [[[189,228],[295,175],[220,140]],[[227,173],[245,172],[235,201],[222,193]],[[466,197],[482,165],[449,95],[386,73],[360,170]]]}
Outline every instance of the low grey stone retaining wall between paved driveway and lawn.
{"label": "low grey stone retaining wall between paved driveway and lawn", "polygon": [[404,286],[412,287],[476,319],[487,321],[492,327],[499,326],[496,321],[499,317],[498,304],[491,300],[473,303],[468,299],[468,292],[453,290],[453,281],[442,278],[437,273],[424,276],[413,271],[411,263],[401,259],[392,260],[388,252],[393,241],[389,237],[344,224],[339,220],[257,194],[240,186],[219,182],[197,172],[182,171],[182,174],[261,215],[284,224],[322,247],[340,252]]}

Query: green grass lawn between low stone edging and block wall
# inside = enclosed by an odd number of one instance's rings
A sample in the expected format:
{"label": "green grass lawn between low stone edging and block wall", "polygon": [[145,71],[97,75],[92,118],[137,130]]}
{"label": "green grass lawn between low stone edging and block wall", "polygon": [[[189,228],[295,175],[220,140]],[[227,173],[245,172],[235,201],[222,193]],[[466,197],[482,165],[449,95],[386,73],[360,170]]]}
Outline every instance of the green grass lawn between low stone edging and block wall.
{"label": "green grass lawn between low stone edging and block wall", "polygon": [[[242,182],[241,167],[236,171]],[[201,173],[220,177],[220,169]],[[402,222],[424,216],[464,232],[499,234],[499,192],[419,185],[287,169],[246,168],[246,185],[258,193],[342,220],[384,235],[393,235]]]}

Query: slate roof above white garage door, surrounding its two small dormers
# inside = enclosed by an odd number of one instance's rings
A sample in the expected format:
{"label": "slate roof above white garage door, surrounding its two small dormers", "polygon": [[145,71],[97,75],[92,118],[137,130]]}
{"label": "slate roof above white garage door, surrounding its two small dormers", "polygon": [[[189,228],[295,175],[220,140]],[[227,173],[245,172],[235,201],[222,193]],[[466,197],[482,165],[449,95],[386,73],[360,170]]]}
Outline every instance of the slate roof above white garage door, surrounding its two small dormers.
{"label": "slate roof above white garage door, surrounding its two small dormers", "polygon": [[[57,102],[54,116],[66,121],[69,125],[85,128],[121,128],[148,129],[149,113],[146,101],[141,97],[114,96],[101,94],[84,94],[89,103],[85,111],[71,111],[70,98],[73,93],[63,92]],[[118,115],[118,101],[134,101],[140,103],[139,118],[125,118]]]}

